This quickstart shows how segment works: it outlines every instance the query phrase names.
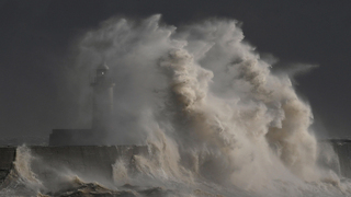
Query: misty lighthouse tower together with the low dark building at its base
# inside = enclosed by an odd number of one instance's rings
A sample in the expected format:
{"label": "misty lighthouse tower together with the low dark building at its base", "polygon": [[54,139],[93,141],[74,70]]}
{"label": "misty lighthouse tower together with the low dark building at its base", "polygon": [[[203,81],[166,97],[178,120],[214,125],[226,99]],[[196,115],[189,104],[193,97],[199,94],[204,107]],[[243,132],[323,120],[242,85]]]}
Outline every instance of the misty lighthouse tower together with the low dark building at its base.
{"label": "misty lighthouse tower together with the low dark building at its base", "polygon": [[49,146],[103,146],[112,128],[113,88],[109,67],[101,63],[95,68],[92,86],[91,129],[53,129]]}

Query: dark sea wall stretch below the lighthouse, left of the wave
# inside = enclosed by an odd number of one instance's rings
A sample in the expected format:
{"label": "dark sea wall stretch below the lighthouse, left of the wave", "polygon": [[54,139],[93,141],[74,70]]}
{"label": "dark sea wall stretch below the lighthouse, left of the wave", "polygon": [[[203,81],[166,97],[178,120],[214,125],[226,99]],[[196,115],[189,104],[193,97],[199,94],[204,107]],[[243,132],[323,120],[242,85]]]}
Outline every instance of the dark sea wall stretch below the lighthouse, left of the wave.
{"label": "dark sea wall stretch below the lighthouse, left of the wave", "polygon": [[[0,182],[14,166],[14,161],[30,162],[39,179],[55,179],[59,174],[77,174],[94,181],[111,181],[113,164],[123,160],[133,170],[133,158],[147,155],[145,146],[70,146],[70,147],[16,147],[0,148]],[[30,157],[29,157],[30,155]]]}

